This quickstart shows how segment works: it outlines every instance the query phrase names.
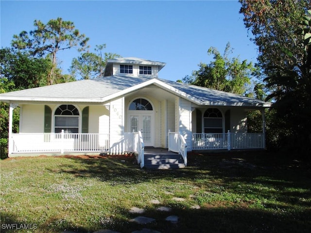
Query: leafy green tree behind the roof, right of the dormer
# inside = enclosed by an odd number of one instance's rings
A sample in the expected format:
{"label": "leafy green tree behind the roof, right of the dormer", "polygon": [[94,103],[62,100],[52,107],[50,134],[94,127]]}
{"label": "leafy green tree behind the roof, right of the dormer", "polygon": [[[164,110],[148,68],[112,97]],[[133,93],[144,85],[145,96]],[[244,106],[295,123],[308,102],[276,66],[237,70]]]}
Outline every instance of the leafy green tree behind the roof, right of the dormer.
{"label": "leafy green tree behind the roof, right of the dormer", "polygon": [[252,63],[246,60],[241,62],[239,58],[230,59],[229,53],[232,53],[232,49],[229,43],[224,55],[214,47],[210,47],[207,53],[214,55],[214,60],[208,65],[200,63],[199,70],[192,71],[192,75],[186,76],[183,82],[245,95],[254,71]]}

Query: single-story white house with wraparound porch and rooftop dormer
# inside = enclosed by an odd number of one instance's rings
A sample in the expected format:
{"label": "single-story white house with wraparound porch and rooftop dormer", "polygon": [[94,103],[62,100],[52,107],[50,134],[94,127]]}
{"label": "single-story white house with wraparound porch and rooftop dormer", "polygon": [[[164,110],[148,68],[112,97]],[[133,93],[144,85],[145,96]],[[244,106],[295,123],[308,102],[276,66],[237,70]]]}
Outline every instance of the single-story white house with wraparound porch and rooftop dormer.
{"label": "single-story white house with wraparound porch and rooftop dormer", "polygon": [[[103,78],[1,94],[10,103],[9,156],[118,154],[141,145],[180,152],[181,142],[185,152],[265,147],[264,115],[262,133],[247,133],[246,113],[264,113],[271,103],[159,79],[165,65],[116,58],[108,60]],[[19,133],[12,133],[17,106]]]}

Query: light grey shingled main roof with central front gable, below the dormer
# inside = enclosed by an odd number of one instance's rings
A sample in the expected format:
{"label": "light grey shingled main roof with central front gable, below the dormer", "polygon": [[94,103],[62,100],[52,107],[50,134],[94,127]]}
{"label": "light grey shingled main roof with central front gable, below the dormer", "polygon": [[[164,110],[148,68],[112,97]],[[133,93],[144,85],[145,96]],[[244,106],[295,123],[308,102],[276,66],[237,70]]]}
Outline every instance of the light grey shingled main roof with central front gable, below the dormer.
{"label": "light grey shingled main roof with central front gable, below the dormer", "polygon": [[271,103],[210,88],[148,77],[108,76],[0,94],[5,102],[103,104],[143,87],[156,85],[198,105],[270,107]]}

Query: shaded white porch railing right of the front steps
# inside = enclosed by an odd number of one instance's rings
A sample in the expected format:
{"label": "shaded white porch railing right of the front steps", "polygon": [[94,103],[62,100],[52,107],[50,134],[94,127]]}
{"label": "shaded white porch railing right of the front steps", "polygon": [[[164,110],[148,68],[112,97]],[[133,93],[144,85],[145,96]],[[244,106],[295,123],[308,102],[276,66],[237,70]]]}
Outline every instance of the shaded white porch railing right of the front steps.
{"label": "shaded white porch railing right of the front steps", "polygon": [[192,150],[264,149],[263,133],[192,133]]}

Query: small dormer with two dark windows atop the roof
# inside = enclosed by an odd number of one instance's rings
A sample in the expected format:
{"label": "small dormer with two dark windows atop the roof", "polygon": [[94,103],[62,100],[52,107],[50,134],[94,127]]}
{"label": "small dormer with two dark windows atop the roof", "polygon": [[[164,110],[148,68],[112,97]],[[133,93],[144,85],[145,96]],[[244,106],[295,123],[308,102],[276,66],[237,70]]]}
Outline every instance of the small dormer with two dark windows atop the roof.
{"label": "small dormer with two dark windows atop the roof", "polygon": [[158,72],[166,65],[137,57],[109,59],[104,76],[122,75],[132,77],[158,78]]}

